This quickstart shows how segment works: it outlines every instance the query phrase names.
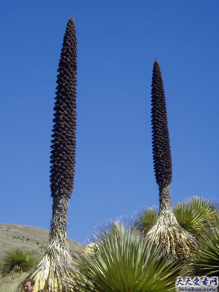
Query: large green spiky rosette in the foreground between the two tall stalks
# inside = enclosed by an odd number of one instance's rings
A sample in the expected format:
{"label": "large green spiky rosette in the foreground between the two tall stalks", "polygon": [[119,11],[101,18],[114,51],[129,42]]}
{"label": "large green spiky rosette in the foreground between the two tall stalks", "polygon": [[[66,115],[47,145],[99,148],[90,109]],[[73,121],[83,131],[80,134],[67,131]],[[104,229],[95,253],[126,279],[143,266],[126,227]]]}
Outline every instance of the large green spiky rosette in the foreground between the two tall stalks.
{"label": "large green spiky rosette in the foreground between the two tall stalks", "polygon": [[177,261],[160,246],[148,245],[141,232],[114,221],[92,239],[92,249],[77,267],[79,291],[175,291]]}

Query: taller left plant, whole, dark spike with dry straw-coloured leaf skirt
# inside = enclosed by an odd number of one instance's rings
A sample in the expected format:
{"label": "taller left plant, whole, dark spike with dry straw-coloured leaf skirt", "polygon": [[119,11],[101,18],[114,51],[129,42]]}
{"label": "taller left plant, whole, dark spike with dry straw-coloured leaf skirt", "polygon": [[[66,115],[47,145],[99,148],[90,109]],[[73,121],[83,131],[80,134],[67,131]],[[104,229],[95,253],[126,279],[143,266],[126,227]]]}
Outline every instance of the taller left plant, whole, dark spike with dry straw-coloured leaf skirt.
{"label": "taller left plant, whole, dark spike with dry straw-coloured leaf skirt", "polygon": [[45,256],[28,276],[35,280],[34,291],[66,291],[69,288],[67,282],[74,281],[74,263],[67,244],[66,225],[75,166],[76,70],[77,38],[72,16],[67,23],[57,76],[55,124],[51,141],[51,228]]}

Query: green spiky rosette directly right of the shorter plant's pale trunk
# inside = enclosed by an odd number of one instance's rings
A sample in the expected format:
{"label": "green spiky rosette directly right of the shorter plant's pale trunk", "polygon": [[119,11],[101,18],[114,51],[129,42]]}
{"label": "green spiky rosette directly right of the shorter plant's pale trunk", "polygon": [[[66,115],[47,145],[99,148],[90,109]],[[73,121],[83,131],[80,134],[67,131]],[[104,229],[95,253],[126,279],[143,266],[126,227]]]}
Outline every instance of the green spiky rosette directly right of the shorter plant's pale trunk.
{"label": "green spiky rosette directly right of the shorter plant's pale trunk", "polygon": [[211,199],[194,196],[173,204],[176,220],[194,236],[205,231],[219,216],[219,207]]}

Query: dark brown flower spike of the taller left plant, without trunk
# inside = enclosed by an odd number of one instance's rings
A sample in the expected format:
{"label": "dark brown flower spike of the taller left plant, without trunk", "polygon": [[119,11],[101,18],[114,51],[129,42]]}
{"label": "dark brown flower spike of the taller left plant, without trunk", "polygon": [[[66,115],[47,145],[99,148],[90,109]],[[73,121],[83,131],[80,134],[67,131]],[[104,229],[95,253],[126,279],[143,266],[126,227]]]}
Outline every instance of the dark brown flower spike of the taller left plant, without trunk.
{"label": "dark brown flower spike of the taller left plant, without trunk", "polygon": [[73,16],[67,23],[59,61],[55,98],[55,119],[51,141],[51,196],[73,190],[76,148],[76,86],[77,86],[77,38]]}

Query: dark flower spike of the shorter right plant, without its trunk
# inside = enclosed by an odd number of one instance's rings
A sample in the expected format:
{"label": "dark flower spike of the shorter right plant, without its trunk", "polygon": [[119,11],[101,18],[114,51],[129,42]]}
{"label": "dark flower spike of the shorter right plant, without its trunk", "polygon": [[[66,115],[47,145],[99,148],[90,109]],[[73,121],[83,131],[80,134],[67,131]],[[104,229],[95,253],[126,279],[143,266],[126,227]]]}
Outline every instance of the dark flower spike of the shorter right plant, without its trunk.
{"label": "dark flower spike of the shorter right plant, without its trunk", "polygon": [[154,62],[151,92],[154,172],[157,184],[164,187],[172,181],[172,163],[164,86],[157,59]]}

